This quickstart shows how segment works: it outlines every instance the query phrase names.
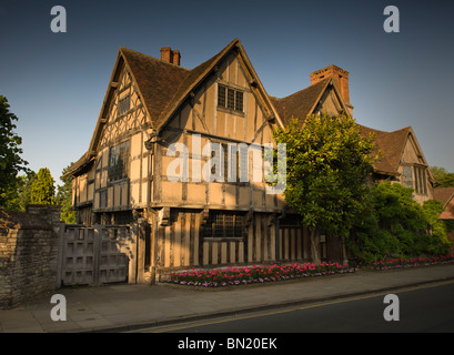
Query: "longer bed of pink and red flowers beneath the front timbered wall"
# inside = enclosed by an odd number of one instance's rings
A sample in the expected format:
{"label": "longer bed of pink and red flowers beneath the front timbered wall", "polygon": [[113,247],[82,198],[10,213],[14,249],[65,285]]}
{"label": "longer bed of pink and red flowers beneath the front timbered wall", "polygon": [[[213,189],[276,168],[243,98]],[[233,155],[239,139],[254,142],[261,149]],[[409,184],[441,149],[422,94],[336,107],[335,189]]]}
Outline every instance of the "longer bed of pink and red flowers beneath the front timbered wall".
{"label": "longer bed of pink and red flowers beneath the front timbered wall", "polygon": [[352,273],[354,270],[339,263],[271,264],[253,266],[229,266],[226,268],[195,270],[171,273],[169,283],[202,287],[224,287],[253,283],[278,282],[322,275]]}

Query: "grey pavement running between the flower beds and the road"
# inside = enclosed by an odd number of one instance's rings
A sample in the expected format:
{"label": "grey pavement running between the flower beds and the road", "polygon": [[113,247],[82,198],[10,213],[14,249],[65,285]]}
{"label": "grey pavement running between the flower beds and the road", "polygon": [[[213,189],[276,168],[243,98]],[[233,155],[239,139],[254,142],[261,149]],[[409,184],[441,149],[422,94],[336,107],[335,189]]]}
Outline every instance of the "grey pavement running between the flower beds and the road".
{"label": "grey pavement running between the flower beds and the road", "polygon": [[[454,265],[356,271],[299,281],[195,290],[170,284],[60,288],[0,311],[0,333],[135,332],[199,321],[454,281]],[[64,295],[67,320],[52,321],[53,294]]]}

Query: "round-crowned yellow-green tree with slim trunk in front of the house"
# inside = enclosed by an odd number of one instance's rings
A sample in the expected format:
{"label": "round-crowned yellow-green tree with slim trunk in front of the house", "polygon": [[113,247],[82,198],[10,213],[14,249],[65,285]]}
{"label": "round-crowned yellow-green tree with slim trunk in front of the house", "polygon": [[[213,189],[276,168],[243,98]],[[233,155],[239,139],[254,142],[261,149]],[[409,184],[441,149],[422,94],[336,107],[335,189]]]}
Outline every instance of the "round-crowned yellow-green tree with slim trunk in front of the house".
{"label": "round-crowned yellow-green tree with slim trunk in front of the house", "polygon": [[345,239],[367,204],[373,136],[362,135],[353,118],[323,114],[307,116],[303,126],[292,119],[274,138],[286,144],[286,156],[276,159],[286,158],[285,202],[311,231],[312,260],[320,263],[316,230]]}

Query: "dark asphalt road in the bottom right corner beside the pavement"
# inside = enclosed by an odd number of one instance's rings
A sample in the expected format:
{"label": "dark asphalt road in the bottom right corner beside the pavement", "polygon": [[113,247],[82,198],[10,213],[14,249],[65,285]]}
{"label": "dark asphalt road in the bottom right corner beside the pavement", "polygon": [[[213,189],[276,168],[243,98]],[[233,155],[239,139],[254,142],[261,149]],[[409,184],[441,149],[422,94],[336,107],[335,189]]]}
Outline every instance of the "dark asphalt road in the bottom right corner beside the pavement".
{"label": "dark asphalt road in the bottom right corner beside the pavement", "polygon": [[[454,333],[454,282],[148,329],[153,333]],[[384,314],[398,321],[386,321]]]}

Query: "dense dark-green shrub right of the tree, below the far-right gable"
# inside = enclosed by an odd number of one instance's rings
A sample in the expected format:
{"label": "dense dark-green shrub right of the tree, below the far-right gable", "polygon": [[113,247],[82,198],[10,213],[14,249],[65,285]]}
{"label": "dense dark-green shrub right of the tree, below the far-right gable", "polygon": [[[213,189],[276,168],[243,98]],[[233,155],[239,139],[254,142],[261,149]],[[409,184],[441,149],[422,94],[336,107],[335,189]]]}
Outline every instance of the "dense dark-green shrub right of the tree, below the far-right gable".
{"label": "dense dark-green shrub right of the tree, below the far-right gable", "polygon": [[412,194],[413,189],[400,184],[373,186],[371,205],[346,241],[355,258],[373,262],[447,253],[451,243],[447,225],[438,220],[441,203],[431,200],[421,206]]}

